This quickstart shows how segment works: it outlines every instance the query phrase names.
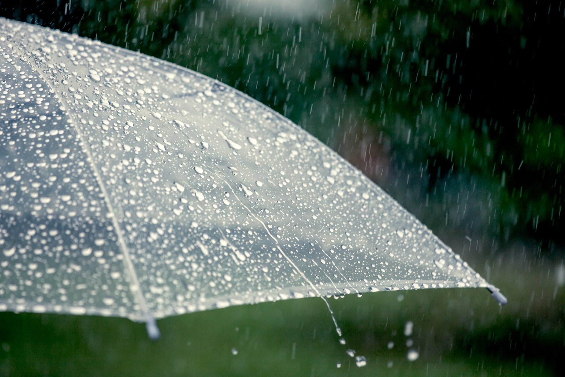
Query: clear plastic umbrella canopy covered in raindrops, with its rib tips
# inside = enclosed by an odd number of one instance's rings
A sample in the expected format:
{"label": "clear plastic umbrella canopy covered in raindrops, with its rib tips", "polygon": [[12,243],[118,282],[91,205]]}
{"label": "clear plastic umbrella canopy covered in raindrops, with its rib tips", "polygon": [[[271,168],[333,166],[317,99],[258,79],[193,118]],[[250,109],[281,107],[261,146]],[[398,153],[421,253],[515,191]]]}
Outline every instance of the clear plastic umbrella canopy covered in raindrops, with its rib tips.
{"label": "clear plastic umbrella canopy covered in raindrops, with its rib tips", "polygon": [[[0,19],[0,310],[155,318],[486,287],[316,138],[233,88]],[[149,326],[153,336],[157,329]]]}

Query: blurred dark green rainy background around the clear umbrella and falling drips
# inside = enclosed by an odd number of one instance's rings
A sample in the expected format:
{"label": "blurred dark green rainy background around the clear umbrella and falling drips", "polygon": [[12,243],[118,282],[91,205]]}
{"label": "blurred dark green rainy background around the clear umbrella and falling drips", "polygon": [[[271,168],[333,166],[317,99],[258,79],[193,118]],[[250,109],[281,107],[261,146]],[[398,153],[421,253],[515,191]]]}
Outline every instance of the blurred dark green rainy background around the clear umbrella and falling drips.
{"label": "blurred dark green rainy background around the clear umbrella and falling drips", "polygon": [[124,319],[0,313],[0,376],[562,374],[565,4],[30,0],[2,1],[0,15],[166,59],[257,98],[509,298],[503,308],[483,289],[331,299],[346,345],[320,299],[160,320],[155,343]]}

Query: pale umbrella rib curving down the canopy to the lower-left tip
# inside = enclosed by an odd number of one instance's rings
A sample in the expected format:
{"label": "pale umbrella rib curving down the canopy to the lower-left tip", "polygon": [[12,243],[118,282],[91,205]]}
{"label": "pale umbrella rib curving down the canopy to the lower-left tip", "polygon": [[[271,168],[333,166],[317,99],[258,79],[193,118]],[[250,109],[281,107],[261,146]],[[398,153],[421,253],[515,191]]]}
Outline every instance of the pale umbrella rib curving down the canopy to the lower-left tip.
{"label": "pale umbrella rib curving down the canopy to the lower-left tip", "polygon": [[[21,54],[20,54],[21,56]],[[32,62],[29,61],[29,59],[25,60],[30,66],[32,66]],[[33,64],[33,66],[36,66],[36,64]],[[63,99],[60,98],[58,96],[57,90],[54,88],[53,85],[51,85],[51,83],[49,82],[49,80],[45,79],[45,77],[43,77],[43,75],[41,74],[41,69],[40,67],[35,67],[35,71],[37,72],[37,75],[41,78],[41,80],[44,81],[44,83],[49,86],[49,88],[51,90],[53,90],[53,97],[63,105],[63,108],[65,108],[66,106],[64,106]],[[66,109],[64,109],[66,110]],[[114,212],[114,206],[112,206],[112,203],[110,201],[110,197],[108,196],[108,192],[106,190],[106,186],[104,185],[103,181],[102,181],[102,176],[100,175],[100,172],[98,171],[98,168],[96,166],[96,164],[94,163],[94,159],[92,157],[92,152],[90,151],[90,148],[88,148],[88,144],[87,142],[84,140],[84,138],[82,137],[82,133],[80,132],[79,127],[77,127],[76,122],[74,117],[71,114],[71,111],[67,111],[67,116],[69,117],[69,120],[71,120],[71,124],[73,129],[75,129],[75,132],[77,134],[77,137],[79,138],[79,144],[80,142],[82,142],[81,148],[82,151],[84,151],[84,153],[86,153],[86,157],[88,158],[88,161],[90,163],[90,167],[92,168],[93,172],[94,172],[94,177],[98,183],[98,187],[100,188],[102,195],[104,196],[104,201],[106,203],[106,206],[108,207],[108,211],[110,211],[110,218],[112,219],[112,226],[114,227],[115,231],[116,231],[116,236],[118,237],[118,244],[120,246],[121,249],[121,253],[124,255],[124,265],[126,270],[129,273],[130,278],[132,279],[132,283],[133,283],[133,287],[135,287],[135,289],[132,289],[132,293],[134,295],[134,297],[137,298],[137,301],[139,302],[140,306],[141,306],[141,311],[144,314],[145,317],[145,322],[146,322],[146,327],[147,327],[147,333],[149,335],[149,337],[153,340],[158,339],[159,338],[159,328],[157,327],[157,323],[155,322],[155,318],[153,317],[153,314],[151,314],[151,312],[149,311],[149,307],[147,306],[147,302],[145,301],[145,297],[143,296],[142,292],[141,292],[141,285],[139,283],[139,280],[137,278],[137,274],[135,271],[135,268],[133,267],[133,262],[132,259],[129,255],[129,249],[128,246],[125,244],[125,240],[123,237],[123,233],[121,232],[120,226],[118,224],[118,219],[116,218],[116,214]]]}

